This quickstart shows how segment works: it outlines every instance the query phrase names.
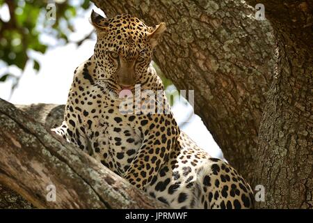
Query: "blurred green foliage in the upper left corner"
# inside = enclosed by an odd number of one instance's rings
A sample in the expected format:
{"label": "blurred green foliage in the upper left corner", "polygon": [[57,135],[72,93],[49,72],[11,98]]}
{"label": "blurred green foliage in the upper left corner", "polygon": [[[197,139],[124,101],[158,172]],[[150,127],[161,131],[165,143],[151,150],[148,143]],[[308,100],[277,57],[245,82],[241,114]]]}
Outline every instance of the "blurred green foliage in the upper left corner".
{"label": "blurred green foliage in the upper left corner", "polygon": [[[10,18],[3,21],[0,17],[0,60],[4,66],[15,65],[24,70],[29,50],[44,53],[47,49],[47,43],[40,41],[40,34],[49,31],[49,35],[61,40],[60,43],[68,43],[66,31],[73,30],[70,18],[76,15],[78,8],[89,8],[90,1],[0,0],[0,8],[3,6],[7,6]],[[47,17],[54,9],[56,16]],[[33,68],[39,70],[38,61],[34,61]],[[5,73],[0,76],[0,82],[8,77],[14,76]]]}

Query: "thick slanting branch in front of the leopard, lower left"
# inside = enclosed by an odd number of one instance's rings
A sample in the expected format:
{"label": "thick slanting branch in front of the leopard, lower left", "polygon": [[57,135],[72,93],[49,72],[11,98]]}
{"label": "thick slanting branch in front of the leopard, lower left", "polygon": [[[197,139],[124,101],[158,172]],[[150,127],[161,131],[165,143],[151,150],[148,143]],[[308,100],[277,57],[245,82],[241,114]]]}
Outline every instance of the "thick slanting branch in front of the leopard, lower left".
{"label": "thick slanting branch in front of the leopard, lower left", "polygon": [[[93,157],[52,136],[49,128],[62,119],[63,106],[22,109],[25,112],[0,99],[1,184],[38,208],[166,207]],[[47,123],[48,128],[42,123]],[[48,185],[56,187],[55,202],[46,199]]]}

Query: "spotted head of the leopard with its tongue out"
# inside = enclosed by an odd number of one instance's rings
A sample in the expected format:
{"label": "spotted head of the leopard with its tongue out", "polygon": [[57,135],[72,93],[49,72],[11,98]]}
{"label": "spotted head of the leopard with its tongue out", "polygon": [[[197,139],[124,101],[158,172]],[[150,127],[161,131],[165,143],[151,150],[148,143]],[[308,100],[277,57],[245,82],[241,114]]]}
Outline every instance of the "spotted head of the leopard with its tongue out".
{"label": "spotted head of the leopard with its tongue out", "polygon": [[116,94],[123,89],[134,91],[135,84],[149,89],[153,77],[148,77],[147,70],[165,23],[150,27],[131,15],[104,18],[95,11],[91,22],[97,31],[94,56],[98,84]]}

